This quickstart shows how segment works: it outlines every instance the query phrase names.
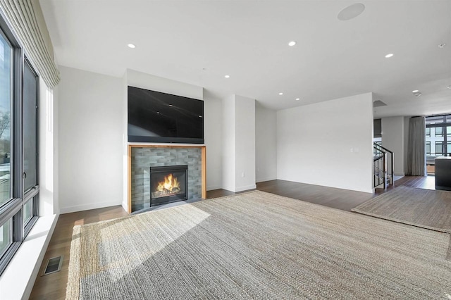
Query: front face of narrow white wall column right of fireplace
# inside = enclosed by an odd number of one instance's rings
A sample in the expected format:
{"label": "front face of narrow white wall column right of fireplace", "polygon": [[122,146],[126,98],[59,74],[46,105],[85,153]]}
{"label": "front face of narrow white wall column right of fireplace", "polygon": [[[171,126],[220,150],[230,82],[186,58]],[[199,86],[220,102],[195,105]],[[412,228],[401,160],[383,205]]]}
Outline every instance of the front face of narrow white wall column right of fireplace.
{"label": "front face of narrow white wall column right of fireplace", "polygon": [[235,95],[234,192],[255,188],[255,100]]}

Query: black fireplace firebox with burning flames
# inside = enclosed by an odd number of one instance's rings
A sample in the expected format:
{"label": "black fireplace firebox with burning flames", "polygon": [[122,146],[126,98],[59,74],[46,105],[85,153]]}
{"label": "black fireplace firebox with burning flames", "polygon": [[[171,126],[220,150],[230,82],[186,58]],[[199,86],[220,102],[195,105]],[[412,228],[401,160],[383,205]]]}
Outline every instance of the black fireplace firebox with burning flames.
{"label": "black fireplace firebox with burning flames", "polygon": [[187,199],[187,165],[150,167],[150,206]]}

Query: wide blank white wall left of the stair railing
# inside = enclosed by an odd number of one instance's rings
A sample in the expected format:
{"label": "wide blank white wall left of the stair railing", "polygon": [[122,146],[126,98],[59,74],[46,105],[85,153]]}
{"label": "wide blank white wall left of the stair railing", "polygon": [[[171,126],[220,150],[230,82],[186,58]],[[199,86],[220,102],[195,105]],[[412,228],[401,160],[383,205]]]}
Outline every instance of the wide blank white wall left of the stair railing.
{"label": "wide blank white wall left of the stair railing", "polygon": [[278,179],[373,192],[372,98],[367,93],[278,111]]}

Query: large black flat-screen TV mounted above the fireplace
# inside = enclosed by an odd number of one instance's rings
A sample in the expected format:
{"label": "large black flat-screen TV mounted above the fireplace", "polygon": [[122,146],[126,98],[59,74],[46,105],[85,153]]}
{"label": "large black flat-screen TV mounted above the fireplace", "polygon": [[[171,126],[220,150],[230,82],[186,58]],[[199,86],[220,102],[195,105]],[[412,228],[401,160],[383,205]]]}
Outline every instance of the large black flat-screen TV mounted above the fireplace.
{"label": "large black flat-screen TV mounted above the fireplace", "polygon": [[128,142],[204,143],[204,101],[128,87]]}

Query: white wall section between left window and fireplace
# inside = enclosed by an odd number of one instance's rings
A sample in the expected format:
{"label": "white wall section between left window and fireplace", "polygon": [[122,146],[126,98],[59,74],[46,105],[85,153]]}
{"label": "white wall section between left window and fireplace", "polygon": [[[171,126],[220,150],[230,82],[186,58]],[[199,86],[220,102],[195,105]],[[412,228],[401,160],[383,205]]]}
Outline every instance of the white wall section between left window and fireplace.
{"label": "white wall section between left window and fireplace", "polygon": [[61,213],[123,200],[121,78],[60,67],[58,85]]}

